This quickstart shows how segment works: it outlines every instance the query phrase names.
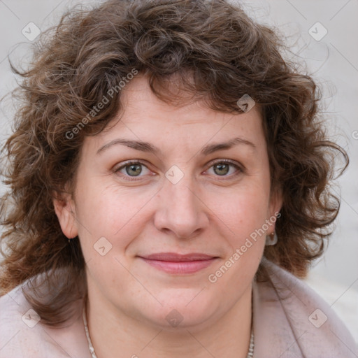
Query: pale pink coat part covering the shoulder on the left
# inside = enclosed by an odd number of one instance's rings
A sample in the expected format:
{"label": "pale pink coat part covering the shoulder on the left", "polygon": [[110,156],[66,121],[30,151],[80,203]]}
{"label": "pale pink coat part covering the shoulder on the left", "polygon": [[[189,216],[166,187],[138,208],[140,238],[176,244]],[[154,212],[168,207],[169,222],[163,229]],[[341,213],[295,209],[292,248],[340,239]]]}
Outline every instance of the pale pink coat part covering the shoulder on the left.
{"label": "pale pink coat part covering the shoulder on the left", "polygon": [[46,326],[22,287],[0,297],[0,358],[88,358],[82,322],[57,329]]}

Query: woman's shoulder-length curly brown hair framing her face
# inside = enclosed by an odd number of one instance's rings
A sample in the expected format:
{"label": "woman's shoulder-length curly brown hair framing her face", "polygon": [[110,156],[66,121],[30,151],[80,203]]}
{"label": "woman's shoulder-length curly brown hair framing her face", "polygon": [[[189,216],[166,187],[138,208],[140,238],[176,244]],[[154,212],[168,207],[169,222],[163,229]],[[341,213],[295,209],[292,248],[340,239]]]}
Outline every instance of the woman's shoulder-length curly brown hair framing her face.
{"label": "woman's shoulder-length curly brown hair framing her face", "polygon": [[[238,99],[255,99],[271,190],[283,198],[279,240],[264,256],[303,277],[322,255],[338,214],[340,201],[329,187],[332,159],[341,153],[345,169],[348,157],[327,139],[313,78],[283,59],[282,49],[273,29],[226,0],[111,0],[64,14],[36,41],[29,69],[12,65],[23,80],[14,92],[21,100],[15,131],[2,150],[9,186],[1,197],[2,292],[43,273],[41,282],[29,280],[26,296],[52,325],[65,322],[69,303],[86,294],[80,243],[68,243],[52,201],[73,180],[85,136],[101,132],[120,110],[120,90],[98,113],[94,106],[133,69],[167,103],[173,103],[172,76],[214,110],[241,113]],[[57,275],[66,278],[61,287]],[[36,295],[41,284],[57,292],[50,303]]]}

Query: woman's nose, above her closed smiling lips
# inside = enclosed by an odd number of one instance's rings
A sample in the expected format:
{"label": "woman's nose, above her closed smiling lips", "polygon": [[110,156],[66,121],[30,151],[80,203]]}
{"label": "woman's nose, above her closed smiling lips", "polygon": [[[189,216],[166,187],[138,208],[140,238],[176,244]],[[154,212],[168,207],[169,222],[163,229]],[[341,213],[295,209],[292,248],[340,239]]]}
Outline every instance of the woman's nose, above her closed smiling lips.
{"label": "woman's nose, above her closed smiling lips", "polygon": [[173,184],[166,180],[158,193],[159,208],[155,213],[155,227],[171,232],[178,238],[192,238],[208,227],[208,207],[186,177]]}

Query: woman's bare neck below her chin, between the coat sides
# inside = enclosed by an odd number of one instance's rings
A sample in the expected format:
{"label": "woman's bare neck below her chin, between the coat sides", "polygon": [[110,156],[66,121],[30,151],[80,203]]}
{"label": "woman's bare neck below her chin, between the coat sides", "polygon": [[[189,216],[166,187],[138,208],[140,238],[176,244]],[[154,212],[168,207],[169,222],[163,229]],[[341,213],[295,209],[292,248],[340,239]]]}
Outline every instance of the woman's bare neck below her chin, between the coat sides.
{"label": "woman's bare neck below her chin, between the coat sides", "polygon": [[[97,358],[246,358],[251,334],[251,285],[220,320],[200,326],[155,327],[101,302],[89,291],[87,320]],[[96,302],[91,305],[90,302]],[[105,309],[103,309],[105,308]]]}

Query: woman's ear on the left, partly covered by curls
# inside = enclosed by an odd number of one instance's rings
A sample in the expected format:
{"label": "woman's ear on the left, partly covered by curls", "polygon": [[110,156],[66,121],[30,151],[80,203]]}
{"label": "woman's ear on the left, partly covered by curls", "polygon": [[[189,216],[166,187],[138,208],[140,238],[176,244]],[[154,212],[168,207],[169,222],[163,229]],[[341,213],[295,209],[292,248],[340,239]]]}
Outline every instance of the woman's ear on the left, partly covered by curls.
{"label": "woman's ear on the left, partly covered by curls", "polygon": [[55,213],[59,220],[62,232],[67,238],[75,238],[78,236],[78,228],[76,225],[76,212],[73,199],[70,194],[56,194],[52,200],[55,206]]}

